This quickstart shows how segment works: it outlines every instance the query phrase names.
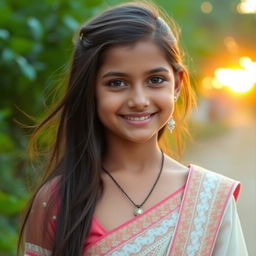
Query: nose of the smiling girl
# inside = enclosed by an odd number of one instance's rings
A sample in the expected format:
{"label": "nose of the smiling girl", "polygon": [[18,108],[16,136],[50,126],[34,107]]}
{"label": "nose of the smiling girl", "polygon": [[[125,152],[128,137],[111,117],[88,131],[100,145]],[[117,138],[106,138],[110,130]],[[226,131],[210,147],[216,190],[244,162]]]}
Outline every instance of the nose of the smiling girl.
{"label": "nose of the smiling girl", "polygon": [[134,88],[128,100],[128,106],[138,111],[144,110],[149,106],[150,100],[144,88]]}

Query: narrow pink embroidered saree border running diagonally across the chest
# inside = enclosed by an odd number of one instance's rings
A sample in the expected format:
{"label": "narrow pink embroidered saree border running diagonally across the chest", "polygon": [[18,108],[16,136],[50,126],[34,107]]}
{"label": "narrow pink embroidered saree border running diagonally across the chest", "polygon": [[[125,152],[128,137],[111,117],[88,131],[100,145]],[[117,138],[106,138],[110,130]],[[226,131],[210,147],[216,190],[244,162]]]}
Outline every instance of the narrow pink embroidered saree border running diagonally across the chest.
{"label": "narrow pink embroidered saree border running diagonally across the chest", "polygon": [[170,199],[150,210],[150,212],[145,215],[140,216],[137,220],[110,233],[89,248],[87,252],[85,252],[85,255],[105,255],[116,247],[121,246],[132,237],[144,232],[146,229],[150,228],[150,226],[173,212],[175,208],[180,205],[182,195],[182,192],[173,195]]}

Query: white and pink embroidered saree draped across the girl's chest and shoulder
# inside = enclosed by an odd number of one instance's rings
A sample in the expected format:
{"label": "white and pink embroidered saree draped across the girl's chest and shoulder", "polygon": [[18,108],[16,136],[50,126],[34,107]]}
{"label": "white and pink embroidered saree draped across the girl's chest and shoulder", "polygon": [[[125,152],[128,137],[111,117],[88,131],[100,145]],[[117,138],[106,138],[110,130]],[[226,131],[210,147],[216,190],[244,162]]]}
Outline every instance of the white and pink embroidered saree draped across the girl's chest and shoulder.
{"label": "white and pink embroidered saree draped across the girl's chest and shoulder", "polygon": [[[186,185],[142,215],[111,231],[94,218],[84,256],[246,256],[234,203],[239,190],[239,182],[190,165]],[[25,255],[50,251],[27,242]]]}

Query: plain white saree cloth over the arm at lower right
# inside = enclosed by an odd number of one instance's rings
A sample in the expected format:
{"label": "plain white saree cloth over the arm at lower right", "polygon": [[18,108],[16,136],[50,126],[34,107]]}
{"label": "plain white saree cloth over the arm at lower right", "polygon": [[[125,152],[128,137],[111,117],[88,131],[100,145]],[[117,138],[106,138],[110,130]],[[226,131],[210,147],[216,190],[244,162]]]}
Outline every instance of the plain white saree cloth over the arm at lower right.
{"label": "plain white saree cloth over the arm at lower right", "polygon": [[212,255],[248,256],[233,196],[229,200]]}

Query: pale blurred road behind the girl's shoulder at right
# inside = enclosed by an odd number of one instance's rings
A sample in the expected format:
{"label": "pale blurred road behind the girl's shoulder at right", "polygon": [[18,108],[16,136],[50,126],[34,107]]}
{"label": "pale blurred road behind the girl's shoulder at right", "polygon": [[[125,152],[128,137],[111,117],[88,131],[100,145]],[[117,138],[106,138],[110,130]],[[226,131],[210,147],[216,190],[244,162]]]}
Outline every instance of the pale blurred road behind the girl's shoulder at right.
{"label": "pale blurred road behind the girl's shoulder at right", "polygon": [[184,161],[241,182],[238,213],[249,255],[256,255],[256,119],[245,110],[235,113],[228,131],[189,145]]}

